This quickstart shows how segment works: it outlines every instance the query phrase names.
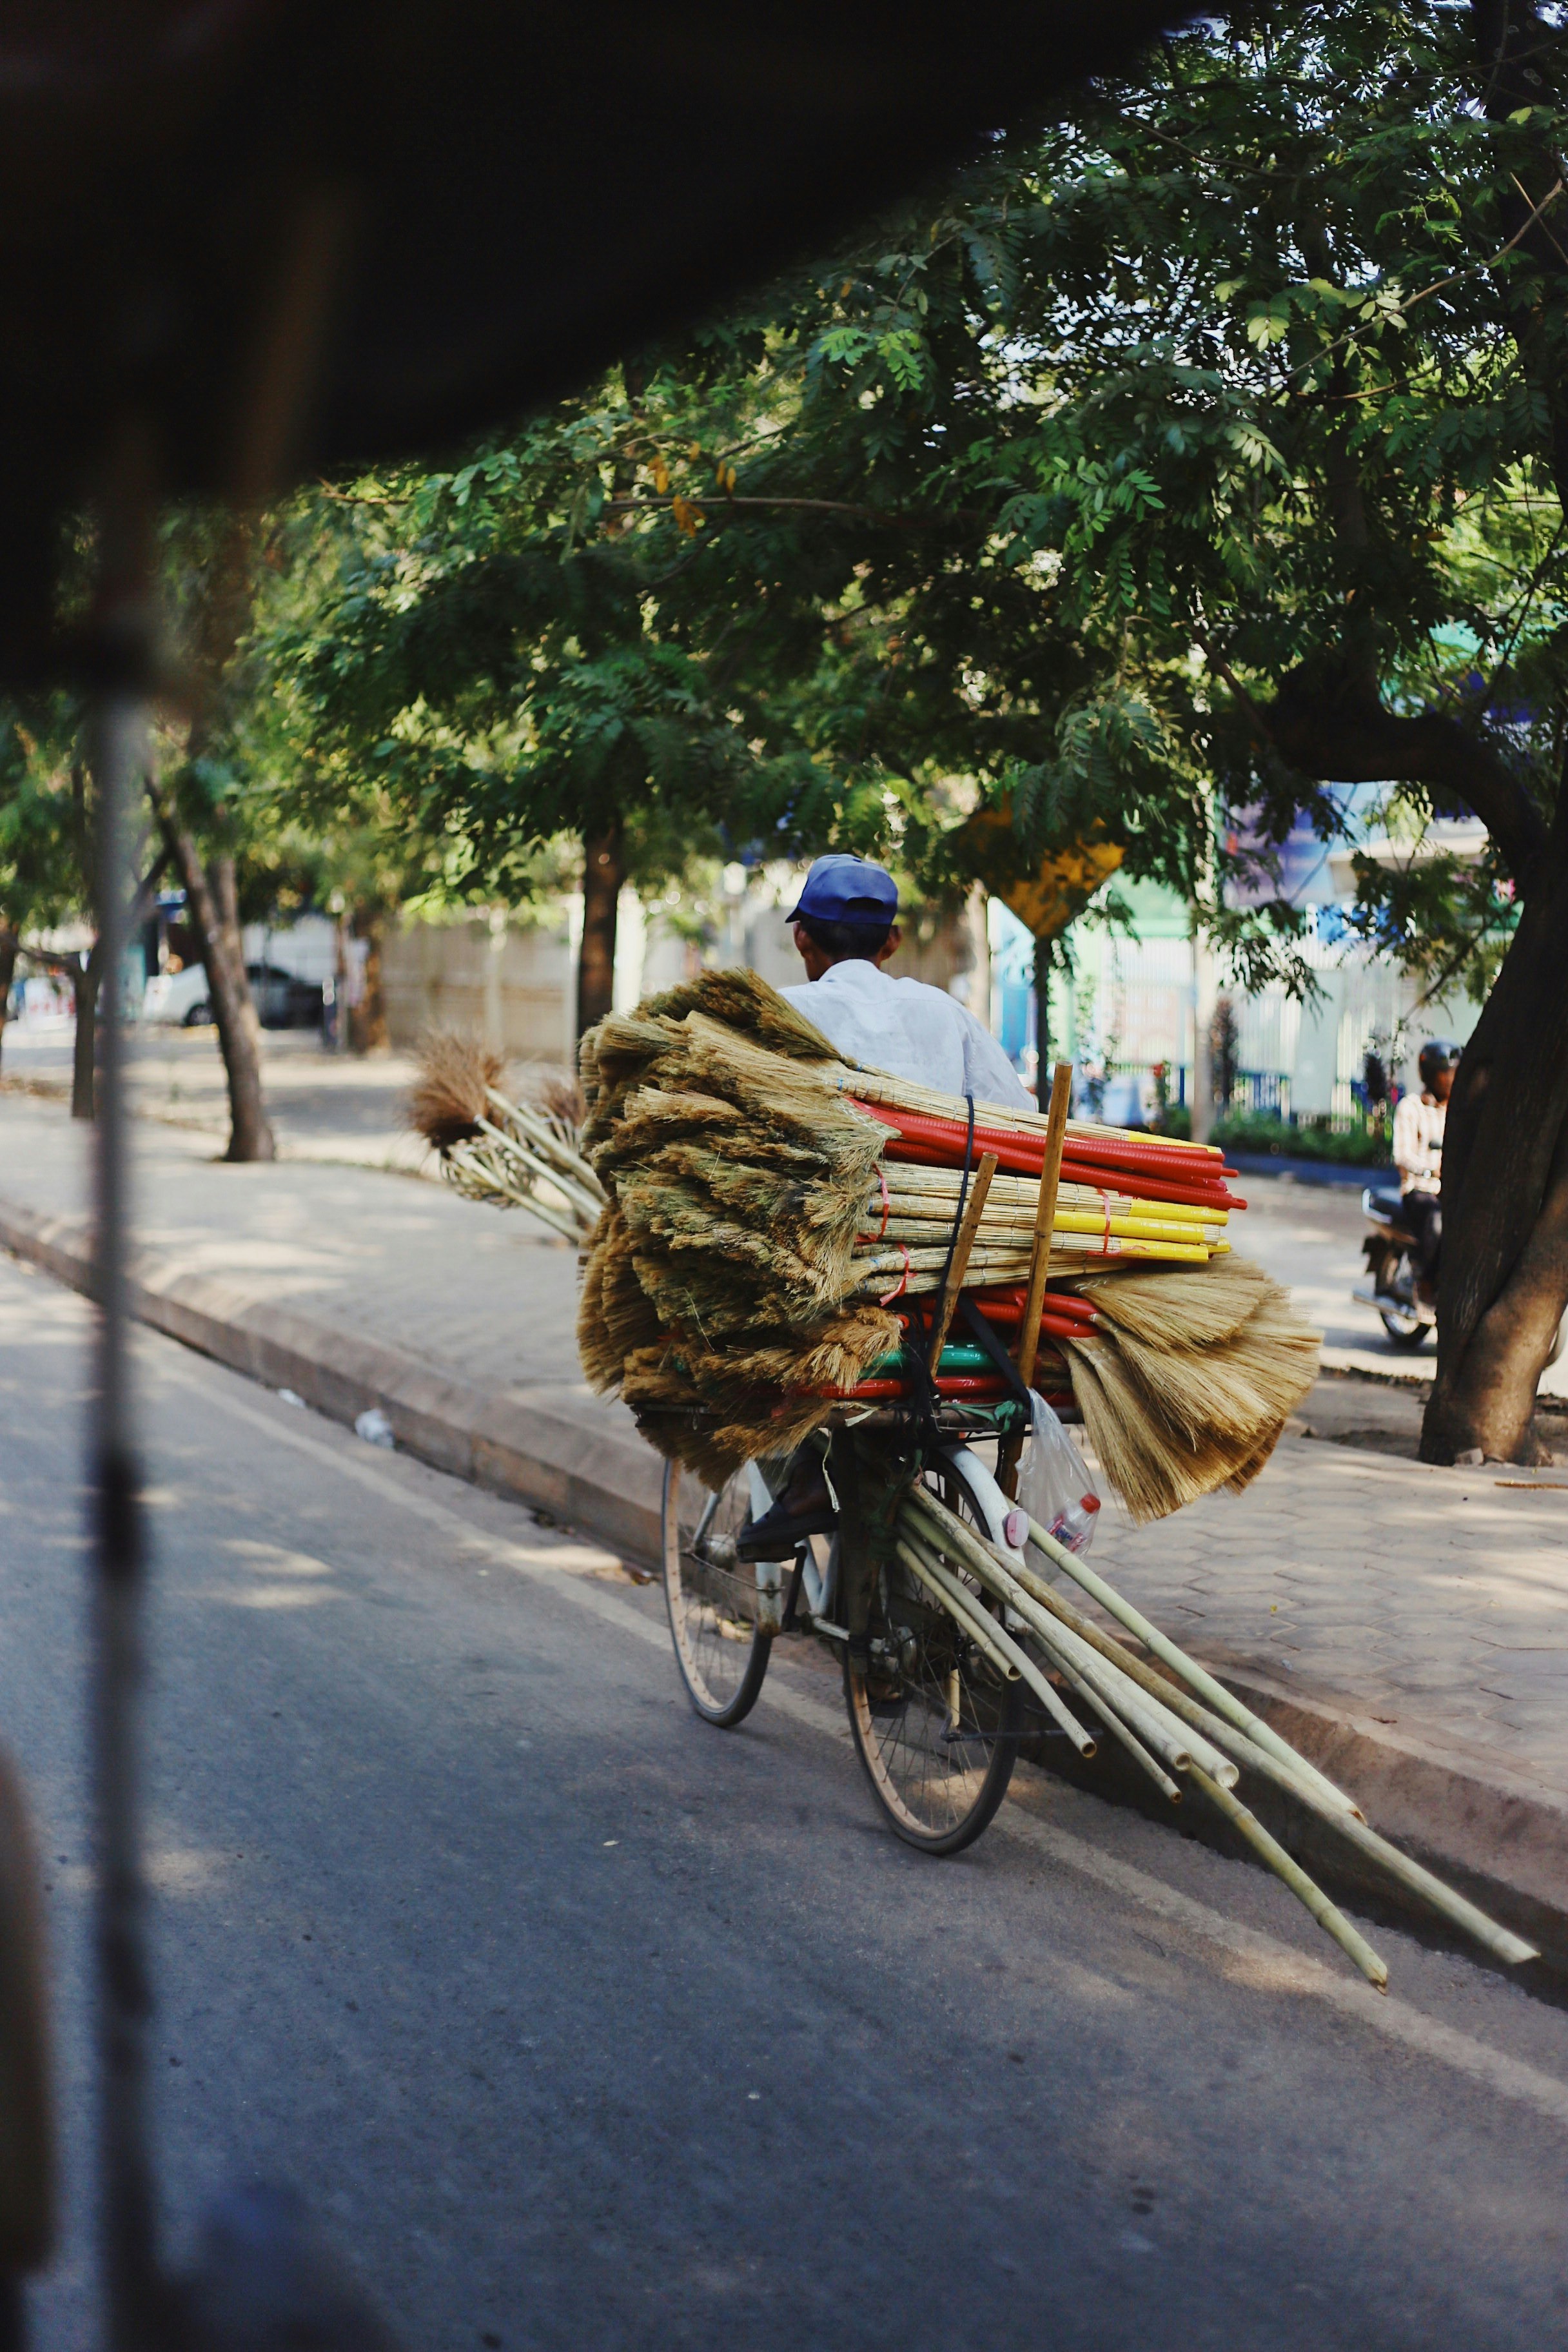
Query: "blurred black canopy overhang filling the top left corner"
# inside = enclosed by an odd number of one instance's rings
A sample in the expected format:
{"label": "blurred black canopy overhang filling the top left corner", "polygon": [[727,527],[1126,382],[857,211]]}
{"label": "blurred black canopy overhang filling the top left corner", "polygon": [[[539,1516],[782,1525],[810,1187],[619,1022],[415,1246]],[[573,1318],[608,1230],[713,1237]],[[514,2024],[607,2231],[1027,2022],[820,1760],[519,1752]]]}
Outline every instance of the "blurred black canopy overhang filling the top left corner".
{"label": "blurred black canopy overhang filling the top left corner", "polygon": [[480,433],[905,195],[1159,0],[21,0],[0,675],[110,423],[162,496]]}

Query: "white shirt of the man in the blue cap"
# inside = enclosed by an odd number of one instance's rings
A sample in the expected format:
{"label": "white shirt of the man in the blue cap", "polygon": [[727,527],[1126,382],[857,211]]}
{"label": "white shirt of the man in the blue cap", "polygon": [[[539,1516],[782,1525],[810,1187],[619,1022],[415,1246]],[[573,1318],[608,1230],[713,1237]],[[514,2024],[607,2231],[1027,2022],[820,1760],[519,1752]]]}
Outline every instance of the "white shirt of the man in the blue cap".
{"label": "white shirt of the man in the blue cap", "polygon": [[978,1103],[1034,1110],[992,1033],[943,988],[893,981],[865,957],[853,957],[783,995],[849,1061],[943,1094],[973,1094]]}

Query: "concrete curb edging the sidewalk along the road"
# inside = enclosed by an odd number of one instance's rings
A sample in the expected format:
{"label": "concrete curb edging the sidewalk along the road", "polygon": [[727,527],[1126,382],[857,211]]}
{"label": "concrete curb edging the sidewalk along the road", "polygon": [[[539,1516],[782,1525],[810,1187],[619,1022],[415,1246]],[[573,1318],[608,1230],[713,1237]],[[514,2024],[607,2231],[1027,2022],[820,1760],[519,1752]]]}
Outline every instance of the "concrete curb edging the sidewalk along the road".
{"label": "concrete curb edging the sidewalk along the road", "polygon": [[[0,1247],[71,1289],[92,1291],[82,1218],[0,1202]],[[292,1388],[334,1421],[353,1425],[381,1406],[397,1442],[433,1468],[517,1496],[630,1559],[658,1559],[663,1463],[609,1409],[559,1390],[465,1383],[404,1348],[254,1298],[242,1284],[179,1272],[150,1251],[132,1258],[129,1282],[136,1317],[169,1338],[268,1388]],[[1509,1776],[1493,1759],[1439,1755],[1335,1705],[1326,1691],[1286,1691],[1244,1656],[1208,1651],[1206,1663],[1354,1790],[1387,1837],[1542,1945],[1554,1976],[1568,1973],[1568,1804],[1554,1790]],[[1258,1811],[1269,1818],[1267,1799]],[[1387,1898],[1387,1882],[1349,1867],[1342,1844],[1300,1832],[1295,1816],[1291,1844],[1309,1867]]]}

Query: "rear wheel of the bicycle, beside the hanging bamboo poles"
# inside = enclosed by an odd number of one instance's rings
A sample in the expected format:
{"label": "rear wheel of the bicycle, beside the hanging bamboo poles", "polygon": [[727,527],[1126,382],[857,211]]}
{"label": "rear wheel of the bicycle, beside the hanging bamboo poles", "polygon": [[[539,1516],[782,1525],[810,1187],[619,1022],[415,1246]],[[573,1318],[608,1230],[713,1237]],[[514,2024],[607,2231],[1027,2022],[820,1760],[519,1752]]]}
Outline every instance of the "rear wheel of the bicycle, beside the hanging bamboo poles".
{"label": "rear wheel of the bicycle, beside the hanging bamboo poles", "polygon": [[[985,1534],[959,1470],[938,1463],[926,1484]],[[943,1562],[994,1616],[964,1562]],[[889,1566],[872,1611],[872,1672],[856,1675],[844,1653],[844,1698],[856,1755],[898,1837],[922,1853],[973,1844],[1013,1778],[1023,1684],[1006,1682],[900,1562]]]}

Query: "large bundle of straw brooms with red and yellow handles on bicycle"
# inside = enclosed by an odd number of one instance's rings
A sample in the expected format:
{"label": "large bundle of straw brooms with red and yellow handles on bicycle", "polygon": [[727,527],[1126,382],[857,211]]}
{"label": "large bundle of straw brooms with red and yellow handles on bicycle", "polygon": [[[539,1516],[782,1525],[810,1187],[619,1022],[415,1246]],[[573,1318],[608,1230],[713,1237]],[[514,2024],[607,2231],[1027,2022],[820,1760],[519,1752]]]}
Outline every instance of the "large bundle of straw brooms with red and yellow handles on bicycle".
{"label": "large bundle of straw brooms with red and yellow handles on bicycle", "polygon": [[[1046,1120],[846,1065],[750,971],[710,971],[583,1040],[581,1152],[609,1195],[578,1345],[651,1442],[719,1484],[846,1397],[907,1388],[959,1282],[1011,1348]],[[1316,1334],[1229,1254],[1222,1157],[1070,1124],[1034,1385],[1077,1399],[1135,1519],[1244,1486],[1316,1374]],[[973,1348],[938,1392],[1004,1395]]]}

